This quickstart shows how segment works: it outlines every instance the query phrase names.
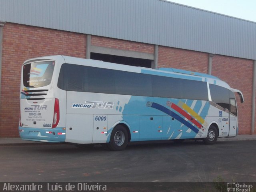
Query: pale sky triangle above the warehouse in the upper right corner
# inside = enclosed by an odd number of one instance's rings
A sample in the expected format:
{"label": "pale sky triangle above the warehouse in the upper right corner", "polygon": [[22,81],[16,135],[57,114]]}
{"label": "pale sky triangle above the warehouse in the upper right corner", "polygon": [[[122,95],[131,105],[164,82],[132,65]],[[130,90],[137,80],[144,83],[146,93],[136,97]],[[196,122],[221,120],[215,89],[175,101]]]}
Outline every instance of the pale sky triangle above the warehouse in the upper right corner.
{"label": "pale sky triangle above the warehouse in the upper right corner", "polygon": [[168,0],[256,22],[256,0]]}

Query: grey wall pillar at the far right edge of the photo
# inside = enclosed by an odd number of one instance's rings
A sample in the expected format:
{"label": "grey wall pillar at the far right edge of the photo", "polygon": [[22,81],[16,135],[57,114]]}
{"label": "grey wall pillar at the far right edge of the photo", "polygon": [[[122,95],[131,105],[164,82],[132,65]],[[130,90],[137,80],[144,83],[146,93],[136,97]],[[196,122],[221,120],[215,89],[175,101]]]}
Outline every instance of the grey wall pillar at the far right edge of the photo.
{"label": "grey wall pillar at the far right edge of the photo", "polygon": [[255,91],[256,91],[256,60],[253,61],[253,74],[252,74],[252,127],[251,127],[251,134],[254,134],[254,125],[255,125]]}

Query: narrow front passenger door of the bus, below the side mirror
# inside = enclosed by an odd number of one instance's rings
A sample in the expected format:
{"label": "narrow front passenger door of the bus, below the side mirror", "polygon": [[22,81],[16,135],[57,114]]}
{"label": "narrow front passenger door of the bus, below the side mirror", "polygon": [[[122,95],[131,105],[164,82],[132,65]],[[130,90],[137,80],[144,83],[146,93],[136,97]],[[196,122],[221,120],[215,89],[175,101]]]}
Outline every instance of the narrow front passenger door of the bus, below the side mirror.
{"label": "narrow front passenger door of the bus, below the side mirror", "polygon": [[229,137],[236,136],[237,133],[237,110],[236,100],[230,99],[230,115],[229,115]]}

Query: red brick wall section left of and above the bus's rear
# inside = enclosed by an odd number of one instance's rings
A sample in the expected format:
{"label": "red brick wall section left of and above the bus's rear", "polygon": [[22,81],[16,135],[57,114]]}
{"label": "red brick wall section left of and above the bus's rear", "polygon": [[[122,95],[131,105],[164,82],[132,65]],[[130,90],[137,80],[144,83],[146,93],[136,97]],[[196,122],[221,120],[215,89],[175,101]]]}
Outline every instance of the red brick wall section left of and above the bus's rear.
{"label": "red brick wall section left of and above the bus's rear", "polygon": [[85,58],[86,35],[6,23],[2,46],[0,137],[17,137],[22,63],[46,55]]}

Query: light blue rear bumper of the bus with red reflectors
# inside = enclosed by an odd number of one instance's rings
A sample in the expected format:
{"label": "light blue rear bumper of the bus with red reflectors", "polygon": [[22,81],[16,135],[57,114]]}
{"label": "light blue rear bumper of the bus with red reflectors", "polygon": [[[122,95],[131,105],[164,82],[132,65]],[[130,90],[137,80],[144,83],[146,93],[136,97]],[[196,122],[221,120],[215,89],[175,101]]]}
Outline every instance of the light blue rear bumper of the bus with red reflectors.
{"label": "light blue rear bumper of the bus with red reflectors", "polygon": [[64,142],[66,139],[66,129],[59,127],[54,129],[44,129],[19,126],[19,132],[20,138],[29,141]]}

